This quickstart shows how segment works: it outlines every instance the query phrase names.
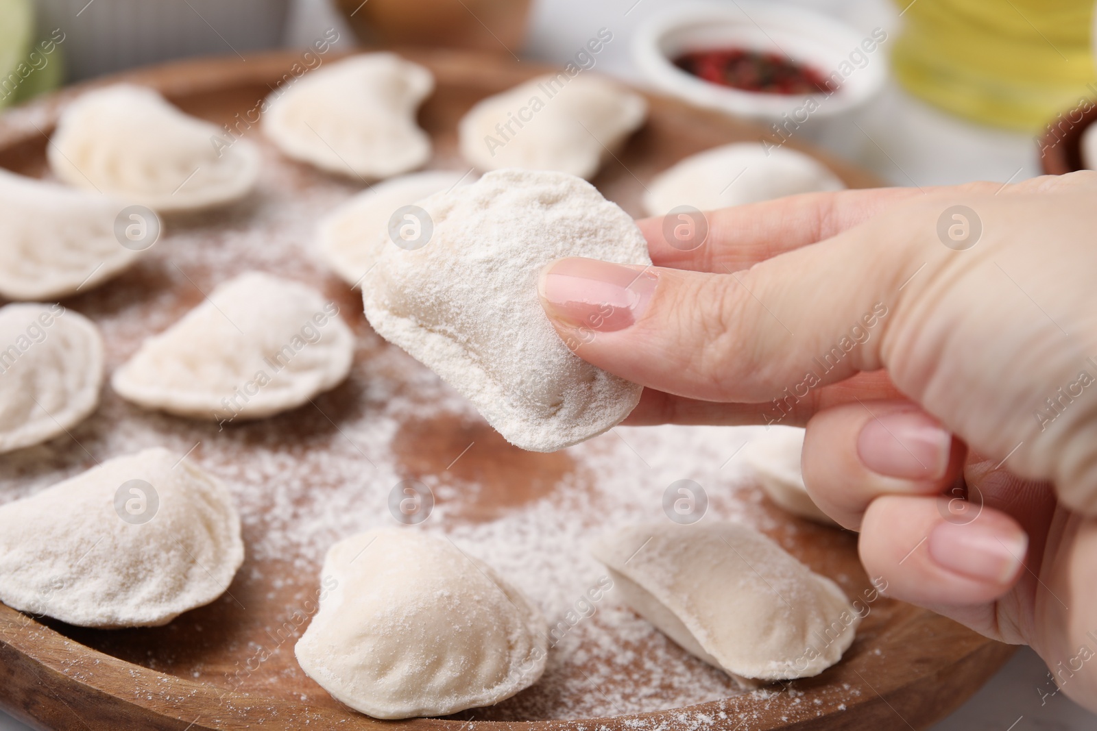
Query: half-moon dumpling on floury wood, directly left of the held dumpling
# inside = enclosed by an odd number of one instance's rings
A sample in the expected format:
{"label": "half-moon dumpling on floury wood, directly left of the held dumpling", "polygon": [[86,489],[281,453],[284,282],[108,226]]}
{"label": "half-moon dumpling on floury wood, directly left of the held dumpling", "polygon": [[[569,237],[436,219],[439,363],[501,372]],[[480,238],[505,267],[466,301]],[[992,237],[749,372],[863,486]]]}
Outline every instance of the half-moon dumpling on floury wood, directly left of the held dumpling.
{"label": "half-moon dumpling on floury wood, directly left of the held dumpling", "polygon": [[354,339],[338,312],[303,284],[248,272],[148,338],[111,386],[138,406],[194,419],[294,409],[350,373]]}

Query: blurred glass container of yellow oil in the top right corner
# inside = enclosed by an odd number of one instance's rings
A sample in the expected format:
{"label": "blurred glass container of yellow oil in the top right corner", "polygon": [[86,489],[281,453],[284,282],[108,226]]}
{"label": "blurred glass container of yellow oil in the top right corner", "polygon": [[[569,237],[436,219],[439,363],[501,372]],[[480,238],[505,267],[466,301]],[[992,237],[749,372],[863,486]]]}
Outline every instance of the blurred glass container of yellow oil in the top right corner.
{"label": "blurred glass container of yellow oil in the top right corner", "polygon": [[896,0],[892,60],[912,93],[961,117],[1025,132],[1097,94],[1093,0]]}

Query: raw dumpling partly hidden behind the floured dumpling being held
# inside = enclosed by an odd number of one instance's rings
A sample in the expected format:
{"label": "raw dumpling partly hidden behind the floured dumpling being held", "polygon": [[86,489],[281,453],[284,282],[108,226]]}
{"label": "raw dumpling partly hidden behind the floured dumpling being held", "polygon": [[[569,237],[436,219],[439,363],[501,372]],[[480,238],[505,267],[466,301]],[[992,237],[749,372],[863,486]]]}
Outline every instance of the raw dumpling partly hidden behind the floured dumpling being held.
{"label": "raw dumpling partly hidden behind the floured dumpling being held", "polygon": [[472,173],[431,170],[377,183],[325,216],[319,227],[320,253],[347,284],[357,285],[391,243],[388,222],[398,208],[475,180]]}

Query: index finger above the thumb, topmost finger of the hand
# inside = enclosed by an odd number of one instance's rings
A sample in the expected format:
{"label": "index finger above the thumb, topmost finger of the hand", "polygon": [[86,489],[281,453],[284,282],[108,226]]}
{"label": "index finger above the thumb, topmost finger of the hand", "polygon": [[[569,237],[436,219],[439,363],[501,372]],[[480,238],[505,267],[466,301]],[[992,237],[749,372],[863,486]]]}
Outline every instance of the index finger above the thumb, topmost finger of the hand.
{"label": "index finger above the thumb, topmost finger of the hand", "polygon": [[909,187],[804,193],[709,210],[703,220],[682,214],[636,225],[656,266],[726,274],[828,239],[920,194]]}

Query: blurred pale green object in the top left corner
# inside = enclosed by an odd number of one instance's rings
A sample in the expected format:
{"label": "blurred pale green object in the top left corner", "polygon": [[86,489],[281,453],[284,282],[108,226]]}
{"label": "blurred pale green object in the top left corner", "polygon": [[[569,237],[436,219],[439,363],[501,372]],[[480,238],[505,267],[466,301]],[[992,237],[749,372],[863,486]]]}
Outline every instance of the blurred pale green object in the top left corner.
{"label": "blurred pale green object in the top left corner", "polygon": [[32,0],[0,0],[0,108],[56,89],[65,77],[61,48],[37,44]]}

